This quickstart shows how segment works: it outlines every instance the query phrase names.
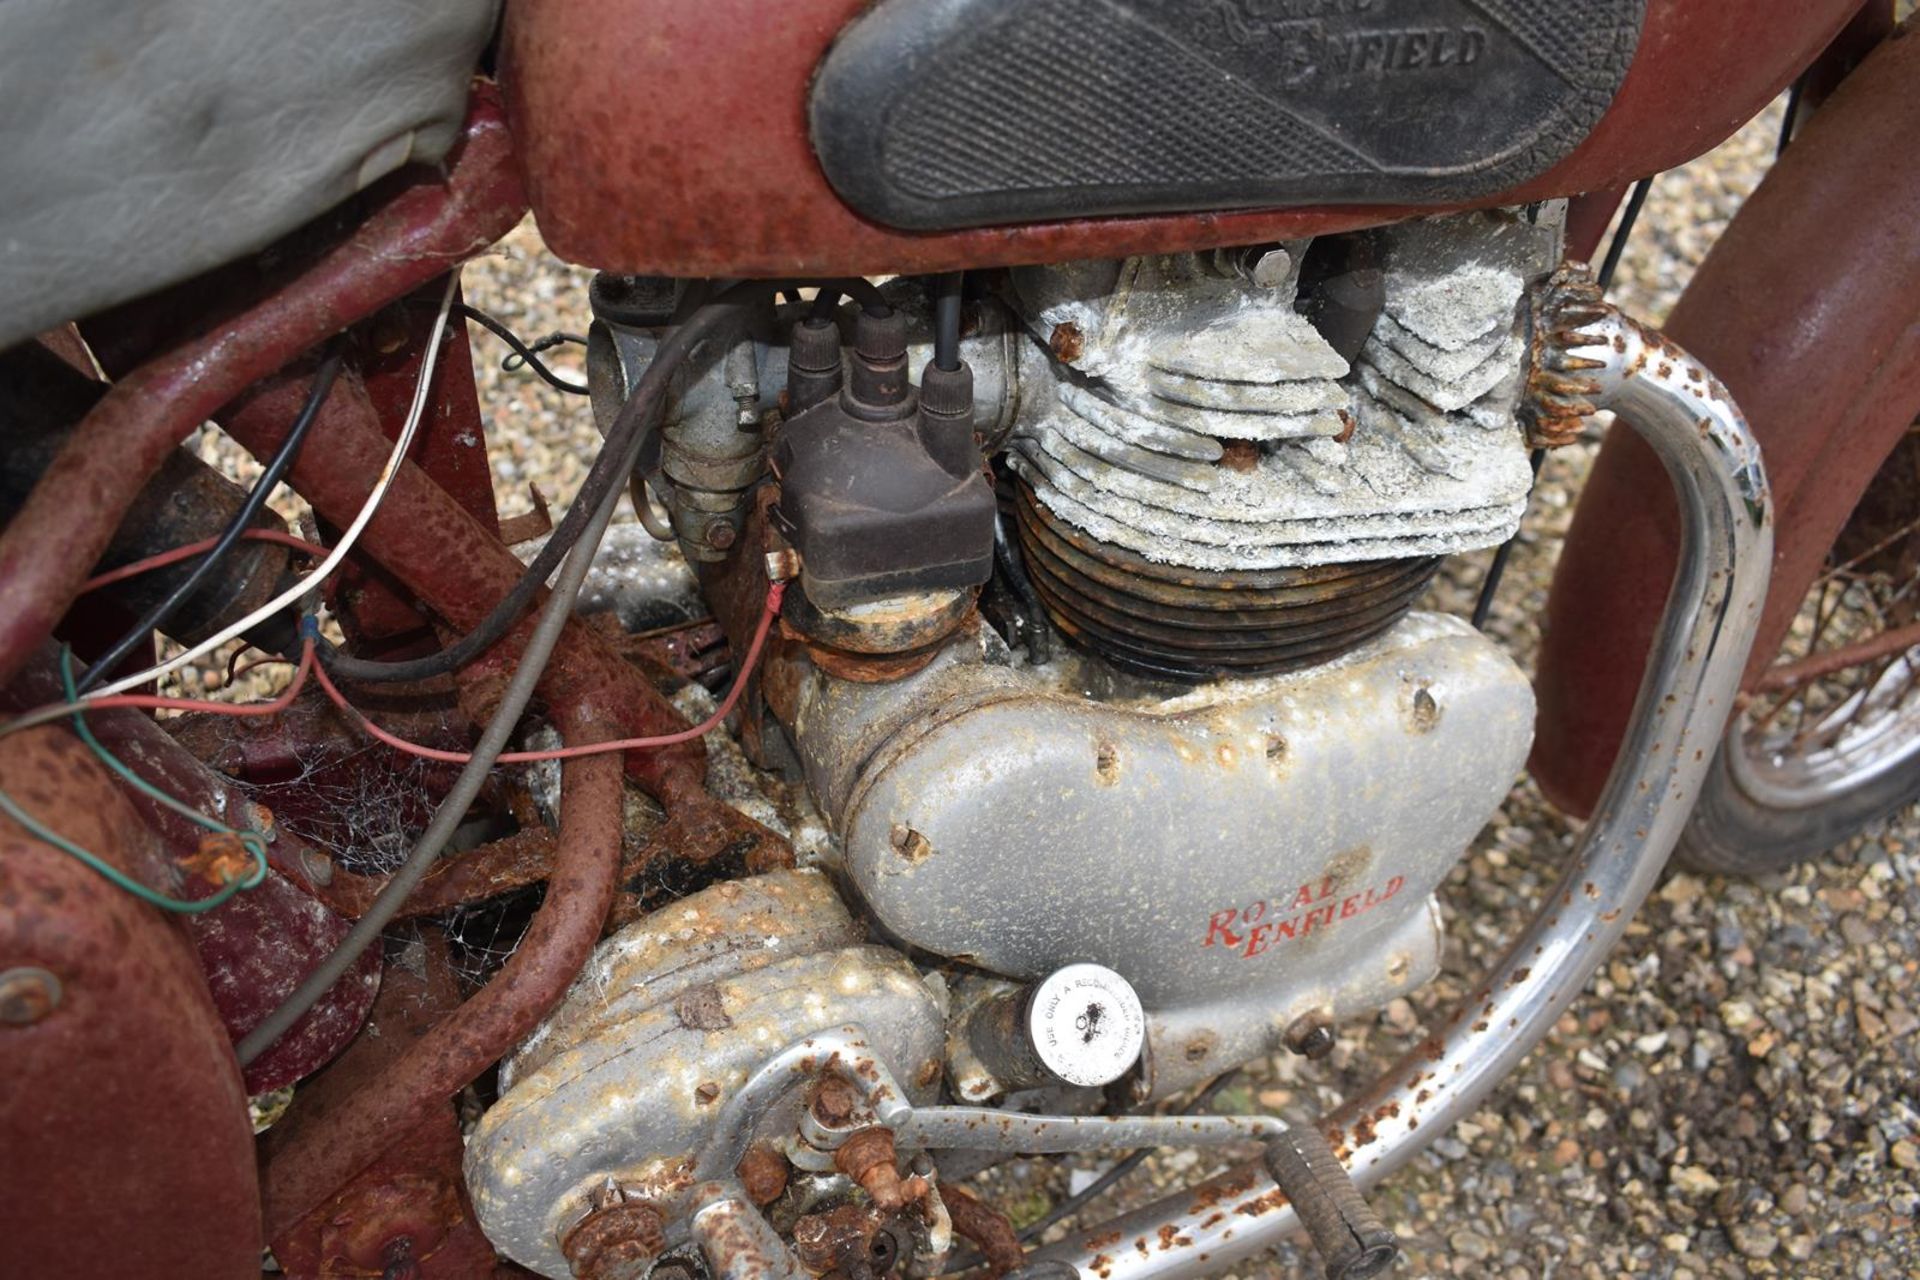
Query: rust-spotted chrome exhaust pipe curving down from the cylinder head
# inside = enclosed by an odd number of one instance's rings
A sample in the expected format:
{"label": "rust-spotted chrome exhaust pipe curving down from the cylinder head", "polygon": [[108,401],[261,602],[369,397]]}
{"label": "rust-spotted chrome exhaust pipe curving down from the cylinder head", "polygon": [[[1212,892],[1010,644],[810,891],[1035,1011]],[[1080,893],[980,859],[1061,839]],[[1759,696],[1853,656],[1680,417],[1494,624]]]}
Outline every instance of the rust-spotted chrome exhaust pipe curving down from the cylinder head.
{"label": "rust-spotted chrome exhaust pipe curving down from the cylinder head", "polygon": [[[1626,741],[1559,885],[1459,1015],[1319,1125],[1359,1188],[1471,1115],[1626,933],[1699,796],[1766,599],[1772,499],[1740,409],[1697,361],[1603,303],[1584,269],[1561,269],[1536,297],[1528,395],[1540,443],[1611,409],[1653,447],[1680,503],[1680,566]],[[1075,1232],[1037,1261],[1085,1280],[1225,1268],[1300,1230],[1277,1190],[1263,1163],[1244,1165]],[[1116,1232],[1177,1247],[1102,1253]]]}

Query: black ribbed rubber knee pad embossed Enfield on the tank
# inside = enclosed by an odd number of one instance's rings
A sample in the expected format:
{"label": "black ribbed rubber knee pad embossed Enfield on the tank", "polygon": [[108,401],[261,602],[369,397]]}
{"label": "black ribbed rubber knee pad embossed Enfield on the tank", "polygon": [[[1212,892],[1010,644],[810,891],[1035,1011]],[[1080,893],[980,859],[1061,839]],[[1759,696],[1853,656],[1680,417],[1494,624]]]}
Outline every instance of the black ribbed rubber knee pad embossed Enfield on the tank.
{"label": "black ribbed rubber knee pad embossed Enfield on the tank", "polygon": [[1444,203],[1565,157],[1645,0],[879,0],[814,148],[891,226]]}

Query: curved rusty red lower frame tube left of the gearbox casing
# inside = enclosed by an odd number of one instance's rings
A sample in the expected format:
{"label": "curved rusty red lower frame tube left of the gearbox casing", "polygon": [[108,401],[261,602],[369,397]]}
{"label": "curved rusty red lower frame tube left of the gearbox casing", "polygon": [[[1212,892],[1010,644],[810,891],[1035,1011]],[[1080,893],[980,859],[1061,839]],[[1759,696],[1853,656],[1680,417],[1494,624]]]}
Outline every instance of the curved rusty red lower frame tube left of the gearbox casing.
{"label": "curved rusty red lower frame tube left of the gearbox casing", "polygon": [[[616,722],[591,704],[557,712],[568,745],[603,743]],[[263,1174],[276,1240],[530,1032],[566,994],[599,940],[620,865],[620,762],[568,760],[547,898],[507,965],[472,1000],[338,1107],[290,1132]]]}

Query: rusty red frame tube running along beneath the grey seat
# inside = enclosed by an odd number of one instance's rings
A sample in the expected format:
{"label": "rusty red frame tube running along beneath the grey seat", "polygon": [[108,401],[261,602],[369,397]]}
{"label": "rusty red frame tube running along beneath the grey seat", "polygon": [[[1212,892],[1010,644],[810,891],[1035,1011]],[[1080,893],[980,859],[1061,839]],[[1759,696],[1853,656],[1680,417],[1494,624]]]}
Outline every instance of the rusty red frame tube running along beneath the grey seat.
{"label": "rusty red frame tube running along beneath the grey seat", "polygon": [[134,495],[196,426],[301,351],[493,244],[524,211],[505,117],[492,94],[474,94],[444,180],[403,190],[265,301],[117,382],[0,533],[0,685],[52,633]]}

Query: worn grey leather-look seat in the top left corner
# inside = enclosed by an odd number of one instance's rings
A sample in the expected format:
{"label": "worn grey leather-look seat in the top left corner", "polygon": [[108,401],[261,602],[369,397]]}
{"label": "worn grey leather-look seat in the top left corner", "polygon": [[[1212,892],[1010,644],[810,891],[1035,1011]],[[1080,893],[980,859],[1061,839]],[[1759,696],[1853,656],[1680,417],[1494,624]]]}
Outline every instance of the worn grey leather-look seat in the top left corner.
{"label": "worn grey leather-look seat in the top left corner", "polygon": [[0,0],[0,347],[453,144],[497,0]]}

